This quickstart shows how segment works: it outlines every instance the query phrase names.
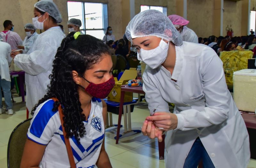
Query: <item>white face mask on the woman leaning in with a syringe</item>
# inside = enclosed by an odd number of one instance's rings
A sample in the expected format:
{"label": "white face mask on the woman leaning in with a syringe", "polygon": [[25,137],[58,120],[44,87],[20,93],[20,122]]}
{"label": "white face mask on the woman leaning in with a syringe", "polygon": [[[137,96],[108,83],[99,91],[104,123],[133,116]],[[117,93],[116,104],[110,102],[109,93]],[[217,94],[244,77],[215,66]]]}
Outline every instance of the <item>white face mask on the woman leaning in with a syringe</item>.
{"label": "white face mask on the woman leaning in with a syringe", "polygon": [[138,52],[138,60],[143,61],[150,68],[156,69],[158,66],[164,63],[169,49],[169,42],[166,43],[162,39],[159,45],[152,50],[140,49]]}

